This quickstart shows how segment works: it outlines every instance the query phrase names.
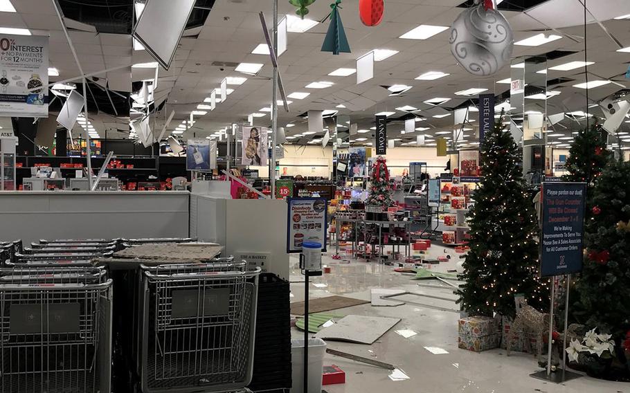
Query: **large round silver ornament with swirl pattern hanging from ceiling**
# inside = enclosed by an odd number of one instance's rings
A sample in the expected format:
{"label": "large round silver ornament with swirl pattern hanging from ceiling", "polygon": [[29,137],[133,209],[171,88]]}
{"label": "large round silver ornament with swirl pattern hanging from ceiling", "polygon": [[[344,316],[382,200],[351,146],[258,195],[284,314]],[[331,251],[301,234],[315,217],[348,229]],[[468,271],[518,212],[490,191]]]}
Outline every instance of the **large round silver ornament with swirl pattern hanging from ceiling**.
{"label": "large round silver ornament with swirl pattern hanging from ceiling", "polygon": [[471,74],[493,75],[510,62],[514,35],[494,0],[476,0],[451,26],[451,53]]}

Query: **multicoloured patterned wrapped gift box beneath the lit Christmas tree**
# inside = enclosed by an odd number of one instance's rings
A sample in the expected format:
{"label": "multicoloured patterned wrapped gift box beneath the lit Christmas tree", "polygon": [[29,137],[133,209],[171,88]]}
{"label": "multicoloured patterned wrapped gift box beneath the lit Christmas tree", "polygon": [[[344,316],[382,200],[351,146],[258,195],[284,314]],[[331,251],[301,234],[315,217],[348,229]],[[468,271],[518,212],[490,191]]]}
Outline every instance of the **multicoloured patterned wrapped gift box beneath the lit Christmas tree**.
{"label": "multicoloured patterned wrapped gift box beneath the lit Christmas tree", "polygon": [[501,342],[500,320],[491,317],[467,317],[459,320],[458,347],[481,352],[498,348]]}

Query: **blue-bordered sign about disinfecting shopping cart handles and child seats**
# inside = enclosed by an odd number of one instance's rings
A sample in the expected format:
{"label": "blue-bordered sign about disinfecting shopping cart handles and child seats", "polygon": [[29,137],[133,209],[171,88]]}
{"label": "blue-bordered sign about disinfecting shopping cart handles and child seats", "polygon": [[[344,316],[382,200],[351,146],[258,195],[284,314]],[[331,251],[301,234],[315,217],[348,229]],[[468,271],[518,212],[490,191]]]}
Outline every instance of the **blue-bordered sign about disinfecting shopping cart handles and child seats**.
{"label": "blue-bordered sign about disinfecting shopping cart handles and child seats", "polygon": [[323,198],[287,199],[287,253],[299,253],[305,241],[326,250],[327,201]]}

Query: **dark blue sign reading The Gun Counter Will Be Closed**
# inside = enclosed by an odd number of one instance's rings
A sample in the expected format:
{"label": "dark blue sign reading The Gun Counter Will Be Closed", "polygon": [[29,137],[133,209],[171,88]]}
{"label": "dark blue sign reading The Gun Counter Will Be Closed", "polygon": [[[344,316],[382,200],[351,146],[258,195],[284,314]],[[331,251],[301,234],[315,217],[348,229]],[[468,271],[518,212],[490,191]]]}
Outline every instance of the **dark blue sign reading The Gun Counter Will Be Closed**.
{"label": "dark blue sign reading The Gun Counter Will Be Closed", "polygon": [[586,183],[542,183],[541,276],[582,271]]}

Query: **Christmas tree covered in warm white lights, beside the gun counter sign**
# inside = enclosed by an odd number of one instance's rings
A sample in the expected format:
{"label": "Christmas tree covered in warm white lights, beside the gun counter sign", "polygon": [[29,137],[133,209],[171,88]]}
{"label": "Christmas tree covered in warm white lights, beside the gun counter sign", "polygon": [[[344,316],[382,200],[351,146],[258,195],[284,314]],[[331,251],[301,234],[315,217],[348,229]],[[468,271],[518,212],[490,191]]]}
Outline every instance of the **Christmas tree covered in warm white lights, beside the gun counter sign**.
{"label": "Christmas tree covered in warm white lights, beside the gun counter sign", "polygon": [[[502,118],[503,116],[501,116]],[[514,295],[537,309],[549,307],[547,281],[539,280],[538,224],[523,180],[521,149],[499,118],[481,144],[481,181],[469,212],[470,250],[458,303],[471,316],[514,317]]]}

